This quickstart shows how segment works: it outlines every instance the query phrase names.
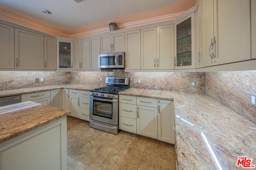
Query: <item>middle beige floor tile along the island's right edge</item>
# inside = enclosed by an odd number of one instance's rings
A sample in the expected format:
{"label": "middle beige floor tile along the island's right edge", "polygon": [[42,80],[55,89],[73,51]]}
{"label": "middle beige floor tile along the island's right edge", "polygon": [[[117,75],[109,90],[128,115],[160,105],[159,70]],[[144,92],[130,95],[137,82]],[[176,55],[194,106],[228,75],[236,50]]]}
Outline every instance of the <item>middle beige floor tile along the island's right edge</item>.
{"label": "middle beige floor tile along the island's right edge", "polygon": [[67,149],[68,155],[73,156],[76,152],[78,152],[84,145],[86,145],[90,140],[92,140],[95,136],[76,130],[70,129],[67,132]]}

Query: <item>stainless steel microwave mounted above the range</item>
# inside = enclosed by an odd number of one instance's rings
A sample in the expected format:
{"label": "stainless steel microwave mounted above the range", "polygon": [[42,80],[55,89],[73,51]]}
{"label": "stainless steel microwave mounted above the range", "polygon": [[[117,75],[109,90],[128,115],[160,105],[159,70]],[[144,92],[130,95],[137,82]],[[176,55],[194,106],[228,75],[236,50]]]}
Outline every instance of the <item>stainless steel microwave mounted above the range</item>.
{"label": "stainless steel microwave mounted above the range", "polygon": [[125,68],[124,52],[99,54],[99,68]]}

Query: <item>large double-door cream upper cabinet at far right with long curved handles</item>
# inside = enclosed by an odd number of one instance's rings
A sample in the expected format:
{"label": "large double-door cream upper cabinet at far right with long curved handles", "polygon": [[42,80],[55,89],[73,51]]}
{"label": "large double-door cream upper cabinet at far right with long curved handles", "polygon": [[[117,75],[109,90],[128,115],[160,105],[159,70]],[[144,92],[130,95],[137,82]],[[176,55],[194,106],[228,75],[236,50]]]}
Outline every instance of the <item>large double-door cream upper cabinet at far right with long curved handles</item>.
{"label": "large double-door cream upper cabinet at far right with long curved handles", "polygon": [[200,66],[249,60],[250,0],[201,0],[200,5]]}

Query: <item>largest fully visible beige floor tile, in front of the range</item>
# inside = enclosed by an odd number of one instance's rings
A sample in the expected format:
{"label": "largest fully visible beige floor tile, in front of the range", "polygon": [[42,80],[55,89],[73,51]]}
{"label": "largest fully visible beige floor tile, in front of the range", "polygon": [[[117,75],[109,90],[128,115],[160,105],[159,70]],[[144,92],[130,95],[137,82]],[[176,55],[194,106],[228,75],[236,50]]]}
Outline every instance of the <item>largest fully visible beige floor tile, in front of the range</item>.
{"label": "largest fully visible beige floor tile, in front of the range", "polygon": [[98,168],[115,147],[111,141],[94,137],[87,145],[74,154],[74,158],[93,167]]}

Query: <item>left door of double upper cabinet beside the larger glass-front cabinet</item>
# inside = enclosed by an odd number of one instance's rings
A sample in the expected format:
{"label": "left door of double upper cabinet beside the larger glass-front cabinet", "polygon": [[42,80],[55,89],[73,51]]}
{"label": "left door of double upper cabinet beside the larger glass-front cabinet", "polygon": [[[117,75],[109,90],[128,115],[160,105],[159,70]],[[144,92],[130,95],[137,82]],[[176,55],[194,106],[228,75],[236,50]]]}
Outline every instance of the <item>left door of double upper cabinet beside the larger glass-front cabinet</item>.
{"label": "left door of double upper cabinet beside the larger glass-front cabinet", "polygon": [[141,69],[156,69],[156,27],[141,30]]}

